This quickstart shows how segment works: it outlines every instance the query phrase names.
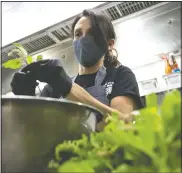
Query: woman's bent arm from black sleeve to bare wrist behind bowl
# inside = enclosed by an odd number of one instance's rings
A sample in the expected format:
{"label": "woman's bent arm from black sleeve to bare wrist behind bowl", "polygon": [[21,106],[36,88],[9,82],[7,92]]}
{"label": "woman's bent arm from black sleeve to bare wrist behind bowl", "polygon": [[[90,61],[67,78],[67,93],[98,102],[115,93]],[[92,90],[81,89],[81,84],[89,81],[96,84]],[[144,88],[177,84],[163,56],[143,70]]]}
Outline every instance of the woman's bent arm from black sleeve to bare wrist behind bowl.
{"label": "woman's bent arm from black sleeve to bare wrist behind bowl", "polygon": [[86,103],[103,112],[104,115],[117,112],[119,119],[131,121],[132,111],[142,108],[138,84],[134,73],[127,67],[118,67],[115,83],[110,95],[110,107],[92,97],[77,84],[73,84],[67,99]]}

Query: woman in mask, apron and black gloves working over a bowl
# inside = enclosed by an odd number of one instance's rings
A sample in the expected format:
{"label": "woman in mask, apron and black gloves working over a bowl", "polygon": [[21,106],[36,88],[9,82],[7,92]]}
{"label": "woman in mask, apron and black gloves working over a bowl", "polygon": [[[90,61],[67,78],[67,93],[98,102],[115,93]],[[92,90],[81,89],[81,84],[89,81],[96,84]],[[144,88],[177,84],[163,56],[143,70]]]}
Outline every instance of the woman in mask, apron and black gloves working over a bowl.
{"label": "woman in mask, apron and black gloves working over a bowl", "polygon": [[79,62],[74,79],[66,74],[59,60],[42,60],[14,75],[13,93],[35,95],[36,80],[39,80],[48,83],[41,96],[82,102],[105,115],[117,112],[119,119],[129,121],[130,112],[142,108],[142,104],[135,75],[120,65],[114,55],[116,35],[111,21],[84,10],[73,23],[72,35]]}

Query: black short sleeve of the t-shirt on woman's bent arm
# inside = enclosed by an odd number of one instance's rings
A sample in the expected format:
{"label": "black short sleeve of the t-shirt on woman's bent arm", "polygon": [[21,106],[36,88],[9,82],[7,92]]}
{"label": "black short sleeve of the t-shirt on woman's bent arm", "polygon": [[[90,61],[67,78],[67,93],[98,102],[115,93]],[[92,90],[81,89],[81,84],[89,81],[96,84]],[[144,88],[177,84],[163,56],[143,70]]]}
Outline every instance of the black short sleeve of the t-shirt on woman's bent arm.
{"label": "black short sleeve of the t-shirt on woman's bent arm", "polygon": [[126,66],[118,67],[110,99],[117,96],[129,96],[135,101],[137,109],[143,108],[135,74]]}

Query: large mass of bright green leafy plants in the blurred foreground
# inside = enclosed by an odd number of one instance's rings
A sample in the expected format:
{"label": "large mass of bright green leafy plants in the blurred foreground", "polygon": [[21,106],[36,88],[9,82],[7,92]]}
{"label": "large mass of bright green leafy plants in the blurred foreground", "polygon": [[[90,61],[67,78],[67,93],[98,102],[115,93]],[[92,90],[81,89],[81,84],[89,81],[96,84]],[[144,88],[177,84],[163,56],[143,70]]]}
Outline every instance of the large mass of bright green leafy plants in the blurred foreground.
{"label": "large mass of bright green leafy plants in the blurred foreground", "polygon": [[131,130],[113,115],[103,132],[59,144],[50,172],[181,172],[180,109],[178,91],[161,106],[149,95]]}

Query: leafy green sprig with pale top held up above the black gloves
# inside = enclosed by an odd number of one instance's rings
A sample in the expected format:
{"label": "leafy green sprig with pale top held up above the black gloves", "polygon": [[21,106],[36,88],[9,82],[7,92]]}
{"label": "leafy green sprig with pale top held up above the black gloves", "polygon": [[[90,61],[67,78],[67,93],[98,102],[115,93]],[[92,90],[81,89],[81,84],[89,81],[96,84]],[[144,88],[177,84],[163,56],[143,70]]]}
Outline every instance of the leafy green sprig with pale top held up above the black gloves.
{"label": "leafy green sprig with pale top held up above the black gloves", "polygon": [[[15,48],[13,48],[9,53],[8,57],[10,60],[4,62],[2,66],[4,68],[9,69],[19,69],[22,68],[24,64],[31,64],[33,61],[32,56],[28,55],[27,51],[23,48],[23,46],[19,43],[13,44]],[[13,58],[12,57],[16,57]],[[42,56],[38,55],[36,61],[42,60]]]}

